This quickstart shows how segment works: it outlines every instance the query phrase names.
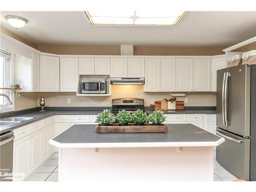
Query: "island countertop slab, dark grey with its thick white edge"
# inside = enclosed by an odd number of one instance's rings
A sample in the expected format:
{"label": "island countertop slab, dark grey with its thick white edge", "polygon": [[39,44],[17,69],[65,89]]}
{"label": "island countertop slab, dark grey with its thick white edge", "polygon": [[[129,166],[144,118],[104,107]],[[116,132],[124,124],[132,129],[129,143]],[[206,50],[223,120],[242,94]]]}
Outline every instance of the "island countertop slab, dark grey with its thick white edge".
{"label": "island countertop slab, dark grey with its thick white edge", "polygon": [[167,133],[95,133],[76,124],[49,141],[60,148],[218,146],[224,138],[193,124],[168,124]]}

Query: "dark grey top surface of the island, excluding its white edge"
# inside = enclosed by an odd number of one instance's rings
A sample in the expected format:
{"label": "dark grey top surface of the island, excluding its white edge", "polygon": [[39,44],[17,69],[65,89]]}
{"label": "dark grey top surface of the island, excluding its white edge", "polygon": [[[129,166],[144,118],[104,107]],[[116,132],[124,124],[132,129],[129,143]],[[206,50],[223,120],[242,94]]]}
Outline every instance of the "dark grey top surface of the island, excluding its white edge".
{"label": "dark grey top surface of the island, excluding its white edge", "polygon": [[[66,144],[220,142],[222,138],[193,124],[168,124],[168,133],[95,133],[95,125],[76,124],[52,139]],[[220,140],[221,139],[221,140]],[[198,145],[197,145],[198,146]]]}

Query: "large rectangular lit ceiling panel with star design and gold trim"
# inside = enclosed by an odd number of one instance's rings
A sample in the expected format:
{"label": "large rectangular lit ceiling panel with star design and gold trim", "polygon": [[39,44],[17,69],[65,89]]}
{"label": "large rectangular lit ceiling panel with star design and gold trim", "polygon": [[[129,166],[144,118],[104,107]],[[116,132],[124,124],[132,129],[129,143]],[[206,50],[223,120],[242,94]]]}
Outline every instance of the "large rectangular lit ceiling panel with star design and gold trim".
{"label": "large rectangular lit ceiling panel with star design and gold trim", "polygon": [[176,26],[185,11],[85,11],[92,25]]}

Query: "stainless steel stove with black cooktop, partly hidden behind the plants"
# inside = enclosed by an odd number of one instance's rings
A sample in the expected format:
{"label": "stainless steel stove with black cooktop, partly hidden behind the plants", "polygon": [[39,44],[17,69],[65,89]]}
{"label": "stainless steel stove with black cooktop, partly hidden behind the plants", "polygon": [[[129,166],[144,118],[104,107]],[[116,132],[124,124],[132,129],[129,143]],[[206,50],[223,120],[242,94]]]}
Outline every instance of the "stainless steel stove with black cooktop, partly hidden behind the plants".
{"label": "stainless steel stove with black cooktop, partly hidden behind the plants", "polygon": [[144,99],[138,98],[119,98],[112,99],[112,113],[117,114],[121,110],[133,113],[136,110],[144,111]]}

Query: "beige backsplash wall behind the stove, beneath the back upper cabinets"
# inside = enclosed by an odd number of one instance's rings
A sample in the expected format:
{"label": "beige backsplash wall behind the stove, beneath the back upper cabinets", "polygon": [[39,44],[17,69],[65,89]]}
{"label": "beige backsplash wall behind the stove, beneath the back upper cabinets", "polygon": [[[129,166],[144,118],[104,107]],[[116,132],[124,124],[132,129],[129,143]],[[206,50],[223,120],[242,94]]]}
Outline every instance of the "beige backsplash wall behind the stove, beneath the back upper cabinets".
{"label": "beige backsplash wall behind the stove, beneath the back upper cabinets", "polygon": [[[111,100],[122,97],[143,98],[145,106],[154,104],[156,100],[170,98],[170,93],[145,93],[143,86],[112,86],[111,96],[76,96],[76,93],[38,93],[44,95],[47,105],[50,106],[111,106]],[[67,98],[71,103],[67,103]],[[216,93],[187,93],[186,97],[180,97],[178,100],[188,98],[186,106],[216,106]]]}

